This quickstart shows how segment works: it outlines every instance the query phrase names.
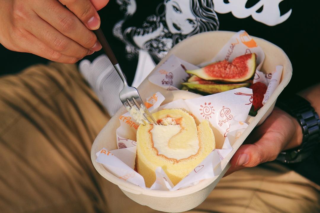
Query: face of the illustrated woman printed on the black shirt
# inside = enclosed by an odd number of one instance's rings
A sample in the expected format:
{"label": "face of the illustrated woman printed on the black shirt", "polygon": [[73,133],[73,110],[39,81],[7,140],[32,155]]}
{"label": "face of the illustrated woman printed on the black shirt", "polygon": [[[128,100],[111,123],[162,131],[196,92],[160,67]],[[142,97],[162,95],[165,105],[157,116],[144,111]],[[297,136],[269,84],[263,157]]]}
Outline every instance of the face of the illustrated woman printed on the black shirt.
{"label": "face of the illustrated woman printed on the black shirt", "polygon": [[170,0],[166,3],[165,20],[172,34],[189,34],[197,27],[189,0]]}

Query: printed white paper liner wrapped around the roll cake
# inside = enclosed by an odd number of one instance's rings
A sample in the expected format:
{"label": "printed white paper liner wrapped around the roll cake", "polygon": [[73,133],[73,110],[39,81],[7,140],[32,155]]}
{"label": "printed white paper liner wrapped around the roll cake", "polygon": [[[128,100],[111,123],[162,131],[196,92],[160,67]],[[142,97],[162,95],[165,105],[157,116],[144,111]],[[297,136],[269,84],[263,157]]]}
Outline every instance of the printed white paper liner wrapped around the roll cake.
{"label": "printed white paper liner wrapped around the roll cake", "polygon": [[[162,168],[158,167],[155,171],[156,182],[150,189],[173,191],[191,186],[203,179],[214,178],[220,174],[221,171],[219,167],[216,168],[217,165],[231,152],[233,149],[231,144],[240,137],[247,127],[244,121],[251,108],[250,97],[239,94],[252,95],[252,90],[243,87],[195,99],[176,100],[161,107],[158,106],[164,101],[164,97],[160,93],[156,93],[147,99],[149,102],[152,99],[154,100],[151,102],[152,106],[149,107],[151,112],[182,108],[192,113],[200,122],[203,119],[209,120],[215,130],[215,135],[223,135],[223,140],[220,141],[222,146],[219,149],[214,149],[176,186],[173,186]],[[97,153],[97,162],[104,164],[108,171],[118,178],[146,188],[141,175],[134,171],[136,122],[130,117],[129,113],[120,116],[119,120],[120,127],[116,130],[119,149],[107,150],[103,148]],[[219,144],[218,139],[216,139],[216,143]]]}

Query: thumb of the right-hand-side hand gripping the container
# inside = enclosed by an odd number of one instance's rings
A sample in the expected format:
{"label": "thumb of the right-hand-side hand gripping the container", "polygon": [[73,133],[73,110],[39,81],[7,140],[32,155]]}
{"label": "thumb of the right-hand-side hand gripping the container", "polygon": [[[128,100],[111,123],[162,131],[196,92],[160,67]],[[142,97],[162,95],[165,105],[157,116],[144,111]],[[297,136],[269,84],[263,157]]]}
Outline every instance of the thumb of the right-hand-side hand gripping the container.
{"label": "thumb of the right-hand-side hand gripping the container", "polygon": [[226,175],[245,167],[254,167],[275,160],[282,149],[282,144],[283,137],[279,133],[271,132],[253,144],[240,146],[230,160],[231,167]]}

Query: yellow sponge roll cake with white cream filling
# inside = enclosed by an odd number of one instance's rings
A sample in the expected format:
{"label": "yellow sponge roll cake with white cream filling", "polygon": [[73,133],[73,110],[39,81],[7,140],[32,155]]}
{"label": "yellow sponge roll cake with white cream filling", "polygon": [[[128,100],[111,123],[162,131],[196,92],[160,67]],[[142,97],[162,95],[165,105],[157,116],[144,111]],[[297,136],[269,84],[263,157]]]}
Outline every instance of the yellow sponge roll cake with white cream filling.
{"label": "yellow sponge roll cake with white cream filling", "polygon": [[137,130],[138,173],[151,187],[160,166],[176,185],[215,148],[212,129],[207,120],[196,126],[194,117],[181,109],[152,115],[160,125],[140,125]]}

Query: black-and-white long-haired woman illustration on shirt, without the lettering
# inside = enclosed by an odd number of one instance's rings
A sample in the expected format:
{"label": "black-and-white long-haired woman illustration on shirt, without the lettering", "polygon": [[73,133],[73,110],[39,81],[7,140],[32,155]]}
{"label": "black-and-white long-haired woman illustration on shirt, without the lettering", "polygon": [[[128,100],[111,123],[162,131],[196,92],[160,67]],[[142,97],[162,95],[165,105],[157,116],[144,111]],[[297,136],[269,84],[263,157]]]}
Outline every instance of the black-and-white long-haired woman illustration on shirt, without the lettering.
{"label": "black-and-white long-haired woman illustration on shirt, without the lettering", "polygon": [[[136,11],[135,0],[117,3],[126,11],[127,18]],[[181,40],[219,27],[213,3],[206,0],[164,0],[155,8],[154,15],[146,17],[142,27],[122,29],[124,21],[115,25],[113,33],[126,44],[129,59],[137,54],[135,49],[144,49],[160,60]]]}

